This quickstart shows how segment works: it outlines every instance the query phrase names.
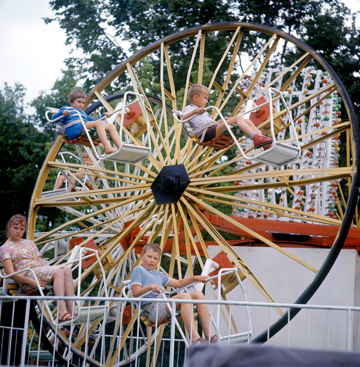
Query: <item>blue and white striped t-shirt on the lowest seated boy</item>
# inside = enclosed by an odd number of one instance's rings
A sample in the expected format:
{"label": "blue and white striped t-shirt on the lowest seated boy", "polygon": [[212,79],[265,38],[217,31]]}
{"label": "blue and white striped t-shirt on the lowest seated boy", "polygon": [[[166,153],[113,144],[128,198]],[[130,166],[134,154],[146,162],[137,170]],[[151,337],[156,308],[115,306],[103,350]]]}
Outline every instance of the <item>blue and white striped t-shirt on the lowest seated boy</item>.
{"label": "blue and white striped t-shirt on the lowest seated boy", "polygon": [[[138,284],[141,288],[150,284],[159,284],[165,291],[165,287],[168,285],[170,277],[158,270],[147,270],[143,266],[135,266],[131,272],[131,285]],[[152,292],[145,298],[156,298],[159,293]],[[141,306],[144,306],[150,302],[141,302]]]}

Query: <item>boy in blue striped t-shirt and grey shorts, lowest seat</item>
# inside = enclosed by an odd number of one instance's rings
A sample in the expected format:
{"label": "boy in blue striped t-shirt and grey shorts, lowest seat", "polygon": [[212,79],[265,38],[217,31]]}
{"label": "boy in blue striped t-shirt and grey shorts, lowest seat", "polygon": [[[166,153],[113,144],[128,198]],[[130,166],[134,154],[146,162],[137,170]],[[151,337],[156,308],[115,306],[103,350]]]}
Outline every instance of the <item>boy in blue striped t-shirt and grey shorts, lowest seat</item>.
{"label": "boy in blue striped t-shirt and grey shorts, lowest seat", "polygon": [[[195,281],[207,282],[207,276],[197,275],[185,279],[173,279],[168,275],[165,275],[158,270],[154,270],[160,261],[161,248],[158,244],[148,243],[143,247],[143,252],[140,254],[140,259],[143,261],[142,266],[136,266],[131,272],[131,287],[134,297],[141,297],[145,293],[152,291],[146,298],[158,298],[160,292],[165,291],[166,286],[181,288],[188,286]],[[180,293],[171,298],[176,299],[205,299],[205,296],[200,291],[191,293]],[[156,305],[158,305],[158,317],[156,320]],[[200,337],[197,328],[195,327],[194,315],[192,313],[192,304],[181,303],[176,304],[176,309],[180,309],[181,317],[184,321],[184,325],[188,333],[190,334],[192,325],[191,342],[192,344],[201,344],[210,342],[216,342],[217,336],[214,335],[210,328],[210,315],[209,309],[206,304],[196,304],[198,317],[201,323],[202,330],[204,331],[207,340]],[[149,320],[152,323],[160,321],[170,314],[168,307],[165,303],[156,302],[141,302],[141,306],[145,308],[145,313],[148,315]]]}

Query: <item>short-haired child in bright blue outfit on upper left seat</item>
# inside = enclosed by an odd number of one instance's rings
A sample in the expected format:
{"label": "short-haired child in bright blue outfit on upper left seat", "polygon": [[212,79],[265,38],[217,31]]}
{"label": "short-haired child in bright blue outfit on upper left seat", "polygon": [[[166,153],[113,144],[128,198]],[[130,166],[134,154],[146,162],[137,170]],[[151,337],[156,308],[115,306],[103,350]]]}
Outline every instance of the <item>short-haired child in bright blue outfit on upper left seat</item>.
{"label": "short-haired child in bright blue outfit on upper left seat", "polygon": [[[106,137],[106,131],[109,132],[111,140],[119,149],[120,147],[120,138],[118,131],[116,130],[115,125],[113,124],[104,124],[101,120],[95,120],[89,115],[86,115],[85,112],[82,111],[86,101],[86,94],[81,89],[74,89],[68,95],[69,105],[70,106],[62,106],[59,112],[55,113],[52,119],[56,119],[62,115],[65,117],[62,118],[64,124],[72,123],[73,124],[65,129],[66,135],[70,140],[76,139],[79,137],[85,130],[83,128],[82,123],[79,120],[79,116],[76,112],[70,113],[69,110],[77,109],[80,111],[80,115],[85,123],[85,126],[90,129],[91,127],[96,128],[97,135],[105,148],[105,154],[111,154],[116,152],[114,148],[112,148],[110,142]],[[103,113],[101,117],[109,117],[109,113]]]}

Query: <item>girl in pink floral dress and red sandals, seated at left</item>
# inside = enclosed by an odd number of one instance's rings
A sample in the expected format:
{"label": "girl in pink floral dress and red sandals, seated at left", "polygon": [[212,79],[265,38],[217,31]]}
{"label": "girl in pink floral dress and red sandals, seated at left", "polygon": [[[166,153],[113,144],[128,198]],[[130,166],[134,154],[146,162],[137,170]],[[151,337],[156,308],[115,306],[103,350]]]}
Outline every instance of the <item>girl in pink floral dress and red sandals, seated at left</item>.
{"label": "girl in pink floral dress and red sandals, seated at left", "polygon": [[[7,224],[8,240],[0,247],[0,261],[8,275],[25,268],[32,268],[39,280],[40,286],[53,283],[54,295],[58,297],[74,297],[74,283],[71,268],[67,265],[46,265],[35,243],[24,240],[22,235],[26,230],[26,218],[21,214],[14,215]],[[23,273],[11,277],[25,291],[37,288],[32,272],[27,276]],[[59,322],[69,321],[78,315],[73,309],[73,301],[58,301]]]}

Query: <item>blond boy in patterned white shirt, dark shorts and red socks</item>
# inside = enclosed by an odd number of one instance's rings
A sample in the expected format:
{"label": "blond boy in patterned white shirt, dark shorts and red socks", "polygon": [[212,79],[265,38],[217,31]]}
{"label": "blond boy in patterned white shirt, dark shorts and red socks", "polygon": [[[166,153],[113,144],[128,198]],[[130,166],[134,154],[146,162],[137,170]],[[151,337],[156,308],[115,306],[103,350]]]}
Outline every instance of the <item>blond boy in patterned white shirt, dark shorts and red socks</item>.
{"label": "blond boy in patterned white shirt, dark shorts and red socks", "polygon": [[[187,105],[185,107],[184,115],[181,117],[181,120],[186,120],[189,117],[198,114],[198,116],[195,116],[190,120],[190,123],[194,129],[213,122],[213,126],[210,126],[206,129],[203,139],[204,142],[211,141],[218,134],[220,134],[222,130],[226,129],[226,126],[222,120],[215,121],[215,119],[206,112],[205,106],[208,103],[209,95],[210,91],[208,87],[205,87],[202,84],[193,84],[188,92],[191,105]],[[252,139],[255,148],[263,147],[264,150],[267,150],[271,147],[273,139],[264,137],[251,120],[244,120],[241,116],[225,117],[225,120],[230,126],[232,124],[237,124],[239,129]],[[199,131],[197,133],[197,137],[200,138],[202,133],[203,130]]]}

